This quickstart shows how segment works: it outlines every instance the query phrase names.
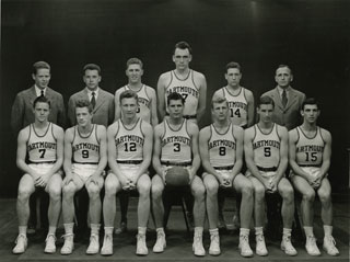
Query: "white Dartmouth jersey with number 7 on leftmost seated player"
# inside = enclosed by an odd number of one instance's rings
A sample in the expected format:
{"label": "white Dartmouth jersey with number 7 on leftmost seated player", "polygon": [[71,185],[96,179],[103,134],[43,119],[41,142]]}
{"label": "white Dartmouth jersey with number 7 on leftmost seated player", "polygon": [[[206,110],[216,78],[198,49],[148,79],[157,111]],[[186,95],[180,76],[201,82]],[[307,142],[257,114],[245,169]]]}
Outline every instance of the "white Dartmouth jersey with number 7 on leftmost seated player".
{"label": "white Dartmouth jersey with number 7 on leftmost seated player", "polygon": [[54,124],[49,123],[43,136],[39,136],[30,125],[30,137],[26,146],[28,159],[33,163],[55,162],[57,159],[57,141],[54,136]]}

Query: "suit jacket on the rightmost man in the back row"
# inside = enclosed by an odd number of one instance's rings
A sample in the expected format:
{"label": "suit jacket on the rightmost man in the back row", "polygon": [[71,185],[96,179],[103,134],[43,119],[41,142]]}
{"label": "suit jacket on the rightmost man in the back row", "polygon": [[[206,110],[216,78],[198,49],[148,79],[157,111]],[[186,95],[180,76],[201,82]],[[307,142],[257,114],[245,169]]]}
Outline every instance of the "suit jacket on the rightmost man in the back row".
{"label": "suit jacket on the rightmost man in the back row", "polygon": [[267,91],[262,95],[270,96],[275,102],[275,112],[272,115],[275,123],[285,126],[288,130],[293,129],[301,124],[300,110],[306,98],[303,92],[291,88],[285,107],[282,105],[281,95],[277,88]]}

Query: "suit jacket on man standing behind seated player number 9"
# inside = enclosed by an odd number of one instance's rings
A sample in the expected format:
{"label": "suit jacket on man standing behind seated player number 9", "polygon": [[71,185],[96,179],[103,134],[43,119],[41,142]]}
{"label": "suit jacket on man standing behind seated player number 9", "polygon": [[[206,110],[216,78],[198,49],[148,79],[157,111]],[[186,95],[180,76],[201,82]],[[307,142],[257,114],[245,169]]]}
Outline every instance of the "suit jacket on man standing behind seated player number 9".
{"label": "suit jacket on man standing behind seated player number 9", "polygon": [[[79,100],[89,100],[88,89],[83,89],[70,96],[68,102],[68,118],[71,126],[77,125],[75,104]],[[98,96],[93,110],[92,123],[107,127],[114,122],[114,95],[107,91],[98,89]]]}

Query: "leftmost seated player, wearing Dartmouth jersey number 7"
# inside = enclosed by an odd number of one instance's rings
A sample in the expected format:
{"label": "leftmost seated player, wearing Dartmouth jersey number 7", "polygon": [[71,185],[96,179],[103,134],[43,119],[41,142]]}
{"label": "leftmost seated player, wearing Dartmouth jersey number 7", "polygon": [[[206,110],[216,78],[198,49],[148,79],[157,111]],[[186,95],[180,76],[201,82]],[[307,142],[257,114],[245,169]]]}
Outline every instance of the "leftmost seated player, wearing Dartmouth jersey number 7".
{"label": "leftmost seated player, wearing Dartmouth jersey number 7", "polygon": [[[50,122],[50,102],[40,95],[34,100],[35,121],[23,128],[18,138],[16,164],[24,172],[19,184],[19,236],[13,253],[23,253],[27,246],[26,229],[30,218],[30,196],[36,189],[45,190],[50,197],[49,229],[45,253],[56,252],[56,227],[61,209],[61,171],[63,162],[63,129]],[[26,158],[28,162],[26,162]]]}

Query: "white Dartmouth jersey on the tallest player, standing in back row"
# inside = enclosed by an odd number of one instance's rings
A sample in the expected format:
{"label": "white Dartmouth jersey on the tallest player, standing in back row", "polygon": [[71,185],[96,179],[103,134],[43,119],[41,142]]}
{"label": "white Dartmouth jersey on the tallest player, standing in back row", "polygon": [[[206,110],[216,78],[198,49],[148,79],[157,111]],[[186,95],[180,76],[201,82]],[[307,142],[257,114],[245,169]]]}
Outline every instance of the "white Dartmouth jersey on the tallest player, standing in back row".
{"label": "white Dartmouth jersey on the tallest player, standing in back row", "polygon": [[197,114],[199,90],[194,80],[194,70],[189,70],[186,79],[180,80],[175,71],[171,71],[171,82],[165,89],[165,104],[167,109],[166,98],[171,93],[176,92],[185,99],[184,116],[192,116]]}

